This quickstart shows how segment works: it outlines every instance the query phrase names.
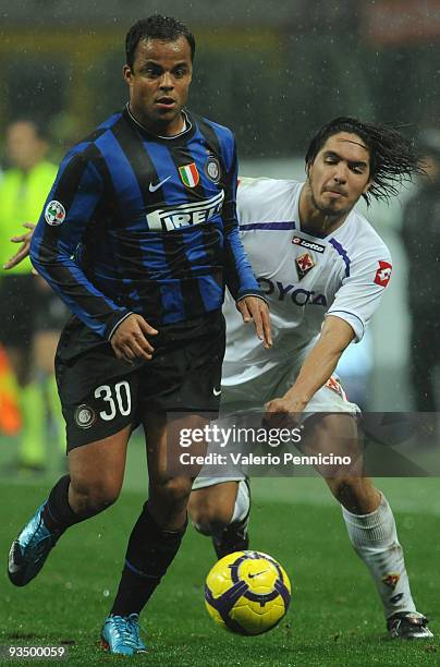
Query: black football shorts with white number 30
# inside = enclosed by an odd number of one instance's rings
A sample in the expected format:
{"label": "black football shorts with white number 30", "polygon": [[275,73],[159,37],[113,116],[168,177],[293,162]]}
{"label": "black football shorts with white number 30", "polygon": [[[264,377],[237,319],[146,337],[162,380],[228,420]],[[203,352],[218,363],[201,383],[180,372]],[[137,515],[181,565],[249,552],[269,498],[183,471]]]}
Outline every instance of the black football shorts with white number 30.
{"label": "black football shorts with white number 30", "polygon": [[[218,412],[224,330],[221,311],[159,327],[152,360],[131,365],[72,318],[56,357],[68,451],[136,426],[146,412]],[[80,351],[82,337],[89,348]]]}

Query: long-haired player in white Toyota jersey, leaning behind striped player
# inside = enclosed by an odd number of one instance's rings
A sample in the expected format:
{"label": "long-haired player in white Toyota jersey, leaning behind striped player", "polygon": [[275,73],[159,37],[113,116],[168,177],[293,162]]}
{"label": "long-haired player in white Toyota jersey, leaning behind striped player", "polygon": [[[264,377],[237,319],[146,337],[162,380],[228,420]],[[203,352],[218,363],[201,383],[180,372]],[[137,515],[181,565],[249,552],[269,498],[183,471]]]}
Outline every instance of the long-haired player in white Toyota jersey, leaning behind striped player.
{"label": "long-haired player in white Toyota jersey, leaning behind striped player", "polygon": [[[260,405],[271,426],[302,413],[315,451],[335,452],[342,433],[357,449],[353,417],[358,408],[349,402],[334,369],[347,345],[364,336],[390,280],[391,256],[353,207],[362,196],[368,203],[396,194],[417,163],[396,131],[338,118],[313,138],[305,183],[242,180],[242,240],[270,303],[273,348],[265,350],[250,329],[240,327],[232,300],[227,302],[223,412],[229,404]],[[201,532],[213,534],[219,557],[247,547],[249,496],[239,477],[204,476],[193,486],[190,512]],[[326,476],[326,482],[376,583],[391,636],[432,636],[416,611],[384,495],[370,478],[353,473]]]}

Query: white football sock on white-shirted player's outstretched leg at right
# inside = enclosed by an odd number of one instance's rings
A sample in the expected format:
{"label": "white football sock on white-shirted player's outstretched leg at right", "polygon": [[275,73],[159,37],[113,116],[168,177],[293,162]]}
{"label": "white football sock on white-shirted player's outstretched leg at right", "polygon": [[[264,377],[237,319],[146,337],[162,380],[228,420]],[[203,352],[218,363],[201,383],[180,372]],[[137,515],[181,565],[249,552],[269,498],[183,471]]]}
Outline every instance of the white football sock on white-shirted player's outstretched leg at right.
{"label": "white football sock on white-shirted player's outstretched leg at right", "polygon": [[342,514],[353,547],[375,580],[386,618],[396,611],[415,611],[394,517],[383,494],[370,514],[352,514],[344,507]]}

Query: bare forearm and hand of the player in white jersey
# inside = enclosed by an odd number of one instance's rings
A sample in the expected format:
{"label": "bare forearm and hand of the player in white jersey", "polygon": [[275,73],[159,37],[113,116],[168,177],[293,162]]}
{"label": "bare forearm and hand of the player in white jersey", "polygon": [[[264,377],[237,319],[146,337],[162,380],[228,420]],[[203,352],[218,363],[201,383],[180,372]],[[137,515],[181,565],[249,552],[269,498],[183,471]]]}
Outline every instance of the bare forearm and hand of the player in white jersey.
{"label": "bare forearm and hand of the player in white jersey", "polygon": [[266,404],[265,421],[277,421],[278,415],[303,412],[313,396],[331,377],[343,351],[354,338],[349,323],[328,315],[321,333],[305,359],[295,384],[282,398]]}

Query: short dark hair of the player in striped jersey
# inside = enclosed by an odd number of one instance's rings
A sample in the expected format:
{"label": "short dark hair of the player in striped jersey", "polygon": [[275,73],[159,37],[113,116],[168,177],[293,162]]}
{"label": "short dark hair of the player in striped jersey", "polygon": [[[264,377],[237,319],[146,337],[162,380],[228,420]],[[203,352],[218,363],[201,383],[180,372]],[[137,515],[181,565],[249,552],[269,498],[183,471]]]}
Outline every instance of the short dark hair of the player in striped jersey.
{"label": "short dark hair of the player in striped jersey", "polygon": [[191,48],[191,60],[194,60],[196,41],[193,33],[183,23],[172,16],[152,14],[148,19],[137,21],[125,37],[126,64],[133,69],[136,48],[139,41],[148,39],[161,39],[162,41],[175,41],[179,37],[185,37]]}

